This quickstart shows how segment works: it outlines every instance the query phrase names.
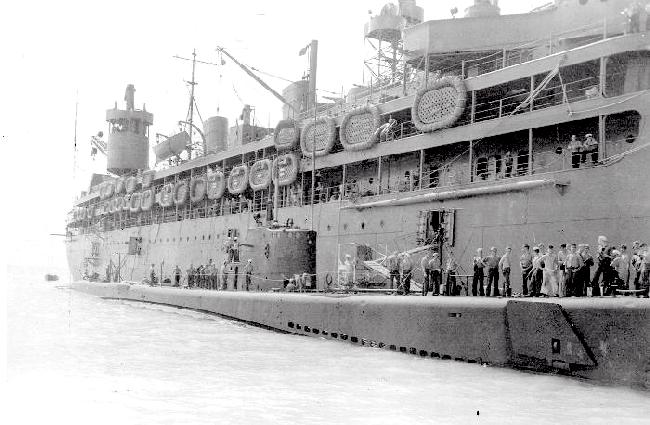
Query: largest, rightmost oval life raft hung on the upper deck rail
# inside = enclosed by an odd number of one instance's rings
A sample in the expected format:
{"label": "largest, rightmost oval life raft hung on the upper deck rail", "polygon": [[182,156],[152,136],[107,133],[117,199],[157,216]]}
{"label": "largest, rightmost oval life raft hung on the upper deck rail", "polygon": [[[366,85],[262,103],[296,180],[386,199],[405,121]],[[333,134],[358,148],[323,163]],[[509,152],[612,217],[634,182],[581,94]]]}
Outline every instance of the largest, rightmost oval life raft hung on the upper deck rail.
{"label": "largest, rightmost oval life raft hung on the upper deck rail", "polygon": [[460,118],[467,90],[460,77],[442,77],[420,89],[411,107],[411,120],[423,132],[449,127]]}

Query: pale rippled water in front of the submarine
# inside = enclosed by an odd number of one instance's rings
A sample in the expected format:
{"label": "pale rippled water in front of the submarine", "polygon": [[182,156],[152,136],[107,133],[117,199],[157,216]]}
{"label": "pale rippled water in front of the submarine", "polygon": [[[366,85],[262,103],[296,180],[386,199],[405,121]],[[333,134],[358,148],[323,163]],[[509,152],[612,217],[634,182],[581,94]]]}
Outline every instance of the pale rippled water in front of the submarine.
{"label": "pale rippled water in front of the submarine", "polygon": [[646,392],[102,300],[45,283],[42,274],[9,277],[4,423],[647,424],[650,417]]}

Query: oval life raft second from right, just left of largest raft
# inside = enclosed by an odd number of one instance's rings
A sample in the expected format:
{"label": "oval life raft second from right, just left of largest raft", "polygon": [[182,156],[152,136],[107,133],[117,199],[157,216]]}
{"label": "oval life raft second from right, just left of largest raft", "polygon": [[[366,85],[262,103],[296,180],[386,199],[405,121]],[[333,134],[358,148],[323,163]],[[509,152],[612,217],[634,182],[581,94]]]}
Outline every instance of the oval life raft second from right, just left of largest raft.
{"label": "oval life raft second from right, just left of largest raft", "polygon": [[348,151],[368,149],[377,143],[381,117],[377,107],[366,105],[354,109],[343,118],[339,136],[343,148]]}

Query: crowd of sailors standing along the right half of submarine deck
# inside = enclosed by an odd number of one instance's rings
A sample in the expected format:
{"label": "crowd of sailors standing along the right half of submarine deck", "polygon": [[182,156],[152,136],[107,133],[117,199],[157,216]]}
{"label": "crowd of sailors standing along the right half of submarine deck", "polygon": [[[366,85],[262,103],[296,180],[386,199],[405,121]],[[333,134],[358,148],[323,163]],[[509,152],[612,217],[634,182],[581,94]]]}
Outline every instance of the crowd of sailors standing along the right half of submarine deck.
{"label": "crowd of sailors standing along the right half of submarine deck", "polygon": [[[510,279],[515,262],[509,246],[502,254],[491,247],[488,255],[483,248],[478,248],[472,258],[473,273],[459,275],[452,255],[447,255],[443,265],[438,250],[431,249],[419,264],[424,277],[422,295],[460,295],[462,285],[458,278],[463,277],[467,279],[466,295],[469,295],[471,278],[472,296],[512,296]],[[600,236],[593,254],[588,244],[562,243],[559,249],[550,244],[539,243],[532,248],[524,244],[518,263],[524,297],[616,295],[617,291],[647,297],[650,288],[650,250],[640,241],[633,242],[628,250],[625,244],[610,246],[607,238]],[[386,258],[385,264],[390,288],[408,295],[416,268],[411,255],[395,252]],[[444,284],[443,277],[446,277]]]}

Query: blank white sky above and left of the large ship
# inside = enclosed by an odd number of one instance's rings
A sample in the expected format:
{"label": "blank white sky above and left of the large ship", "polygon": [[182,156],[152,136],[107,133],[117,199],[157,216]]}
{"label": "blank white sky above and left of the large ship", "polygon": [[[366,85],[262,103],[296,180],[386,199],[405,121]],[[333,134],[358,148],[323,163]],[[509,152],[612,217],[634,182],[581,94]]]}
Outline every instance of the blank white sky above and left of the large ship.
{"label": "blank white sky above and left of the large ship", "polygon": [[[418,1],[429,19],[446,19],[471,0]],[[521,13],[544,0],[502,0],[502,13]],[[298,51],[319,40],[318,87],[345,92],[363,78],[368,56],[363,25],[385,1],[11,1],[3,4],[2,259],[43,264],[63,258],[65,214],[90,173],[106,162],[89,155],[90,136],[106,130],[105,111],[135,85],[136,107],[154,114],[156,132],[171,134],[188,107],[190,57],[216,62],[216,46],[267,73],[298,80],[307,69]],[[220,77],[221,75],[221,77]],[[262,125],[275,126],[281,103],[231,61],[198,65],[196,97],[203,119],[226,116],[231,125],[243,103]],[[264,77],[277,91],[286,82]],[[234,86],[234,89],[233,89]],[[237,95],[235,94],[235,90]],[[74,152],[78,99],[77,155]],[[240,100],[241,99],[241,100]],[[243,102],[243,103],[242,103]],[[153,157],[153,153],[150,153]],[[55,251],[55,252],[52,252]]]}

